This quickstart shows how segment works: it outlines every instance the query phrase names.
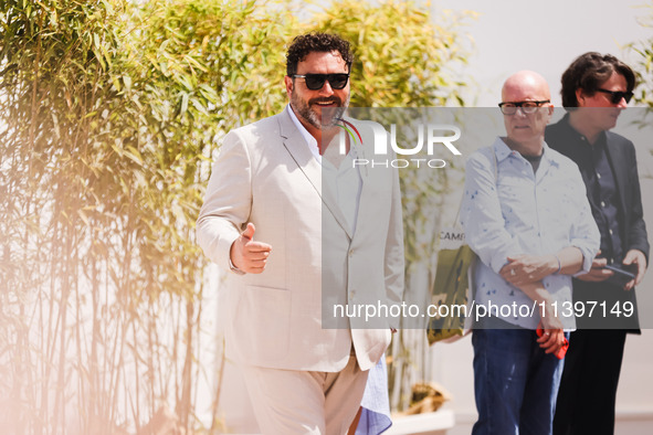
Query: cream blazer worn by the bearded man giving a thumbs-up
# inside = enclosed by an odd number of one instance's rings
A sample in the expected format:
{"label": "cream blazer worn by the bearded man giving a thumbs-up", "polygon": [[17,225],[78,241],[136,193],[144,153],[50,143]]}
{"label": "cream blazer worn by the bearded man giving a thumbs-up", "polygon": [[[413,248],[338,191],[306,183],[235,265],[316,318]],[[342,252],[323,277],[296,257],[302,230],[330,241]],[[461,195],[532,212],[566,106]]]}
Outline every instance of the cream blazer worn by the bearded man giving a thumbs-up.
{"label": "cream blazer worn by the bearded man giving a thumbs-up", "polygon": [[[349,304],[354,312],[364,304],[401,301],[398,173],[385,166],[360,168],[351,234],[336,200],[323,194],[322,167],[287,110],[225,136],[197,222],[200,246],[225,269],[231,244],[247,222],[256,227],[254,240],[272,245],[262,274],[230,273],[225,279],[227,352],[244,364],[336,372],[354,348],[368,370],[398,319],[334,317],[334,304]],[[372,130],[355,125],[362,136],[359,156],[371,156]]]}

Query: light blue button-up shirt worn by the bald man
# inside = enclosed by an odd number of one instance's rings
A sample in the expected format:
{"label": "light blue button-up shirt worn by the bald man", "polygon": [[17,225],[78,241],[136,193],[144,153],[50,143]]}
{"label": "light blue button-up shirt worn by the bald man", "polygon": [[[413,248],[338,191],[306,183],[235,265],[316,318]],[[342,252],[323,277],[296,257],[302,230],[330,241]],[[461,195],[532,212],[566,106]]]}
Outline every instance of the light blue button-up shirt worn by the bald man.
{"label": "light blue button-up shirt worn by the bald man", "polygon": [[[498,275],[507,257],[550,255],[576,246],[583,256],[581,273],[587,273],[599,250],[600,233],[580,171],[546,144],[536,173],[528,160],[510,150],[502,138],[474,152],[465,168],[461,222],[467,244],[481,259],[474,269],[475,304],[517,307],[504,309],[497,317],[527,329],[537,328],[540,310]],[[549,275],[543,283],[558,303],[558,318],[565,329],[575,329],[576,319],[561,315],[562,306],[572,300],[571,276]],[[531,308],[533,315],[524,316],[528,311],[524,306]]]}

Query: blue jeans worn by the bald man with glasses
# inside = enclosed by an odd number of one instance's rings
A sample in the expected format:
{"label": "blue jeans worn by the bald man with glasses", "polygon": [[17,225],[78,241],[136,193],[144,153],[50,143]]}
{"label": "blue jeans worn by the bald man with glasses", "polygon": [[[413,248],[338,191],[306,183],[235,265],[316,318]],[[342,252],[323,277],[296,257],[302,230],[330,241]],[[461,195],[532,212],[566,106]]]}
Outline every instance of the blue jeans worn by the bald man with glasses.
{"label": "blue jeans worn by the bald man with glasses", "polygon": [[478,411],[473,435],[552,432],[562,360],[544,352],[534,330],[513,328],[474,329],[472,335]]}

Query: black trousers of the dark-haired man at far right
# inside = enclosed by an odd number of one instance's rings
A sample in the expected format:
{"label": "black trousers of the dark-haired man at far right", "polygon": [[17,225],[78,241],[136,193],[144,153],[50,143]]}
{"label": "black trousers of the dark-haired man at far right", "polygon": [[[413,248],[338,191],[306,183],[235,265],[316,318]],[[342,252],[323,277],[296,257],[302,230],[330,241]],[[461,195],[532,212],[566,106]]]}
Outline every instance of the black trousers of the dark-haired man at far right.
{"label": "black trousers of the dark-haired man at far right", "polygon": [[554,435],[612,435],[626,331],[571,332],[558,391]]}

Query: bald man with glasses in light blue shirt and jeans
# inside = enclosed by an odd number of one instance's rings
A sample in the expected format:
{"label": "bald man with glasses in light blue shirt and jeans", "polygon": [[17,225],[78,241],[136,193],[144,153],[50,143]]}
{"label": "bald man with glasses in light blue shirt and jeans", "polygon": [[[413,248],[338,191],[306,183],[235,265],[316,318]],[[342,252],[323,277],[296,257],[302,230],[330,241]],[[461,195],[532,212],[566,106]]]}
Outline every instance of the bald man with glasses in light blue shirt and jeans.
{"label": "bald man with glasses in light blue shirt and jeans", "polygon": [[470,157],[462,205],[465,238],[481,259],[477,314],[489,312],[472,337],[473,434],[544,435],[576,327],[573,310],[562,309],[571,275],[590,270],[600,235],[578,167],[544,140],[554,110],[544,77],[508,77],[499,107],[506,136]]}

